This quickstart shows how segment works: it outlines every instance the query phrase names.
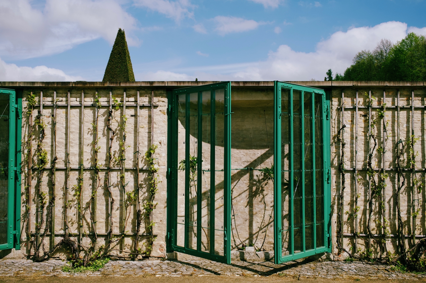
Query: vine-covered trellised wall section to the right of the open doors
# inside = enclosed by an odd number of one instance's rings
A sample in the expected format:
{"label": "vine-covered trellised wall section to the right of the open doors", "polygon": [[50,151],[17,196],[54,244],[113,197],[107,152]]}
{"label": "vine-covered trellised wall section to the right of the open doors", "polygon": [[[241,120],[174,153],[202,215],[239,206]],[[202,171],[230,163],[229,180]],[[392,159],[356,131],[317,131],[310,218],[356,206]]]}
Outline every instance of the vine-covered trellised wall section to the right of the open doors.
{"label": "vine-covered trellised wall section to the right of the open doors", "polygon": [[340,239],[357,255],[405,251],[426,234],[423,82],[336,86],[331,95],[333,252],[343,251]]}

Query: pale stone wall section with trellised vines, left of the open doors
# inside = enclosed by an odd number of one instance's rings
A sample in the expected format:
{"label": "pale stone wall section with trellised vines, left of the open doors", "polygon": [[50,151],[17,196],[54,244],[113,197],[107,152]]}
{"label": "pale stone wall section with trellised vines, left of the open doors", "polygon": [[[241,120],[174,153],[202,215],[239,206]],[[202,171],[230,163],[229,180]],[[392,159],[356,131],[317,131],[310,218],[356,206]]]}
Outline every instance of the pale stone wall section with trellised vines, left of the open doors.
{"label": "pale stone wall section with trellised vines, left of the open doors", "polygon": [[[35,100],[32,105],[31,99]],[[86,247],[95,235],[99,247],[108,237],[119,238],[124,232],[112,252],[128,255],[121,251],[137,248],[136,219],[141,209],[138,247],[145,250],[150,238],[147,226],[153,221],[155,242],[150,255],[165,255],[166,110],[165,88],[23,88],[21,242],[26,254],[33,253],[37,243],[49,250],[67,230]],[[147,219],[141,207],[150,199],[144,154],[151,144],[158,145],[153,155],[158,167],[158,205],[152,219]]]}

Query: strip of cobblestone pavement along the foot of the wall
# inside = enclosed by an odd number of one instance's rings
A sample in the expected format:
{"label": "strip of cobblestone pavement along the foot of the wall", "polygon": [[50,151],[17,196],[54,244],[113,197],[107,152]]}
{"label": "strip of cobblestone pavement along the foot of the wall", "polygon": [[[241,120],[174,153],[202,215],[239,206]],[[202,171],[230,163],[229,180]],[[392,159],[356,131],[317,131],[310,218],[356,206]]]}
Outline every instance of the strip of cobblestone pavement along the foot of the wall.
{"label": "strip of cobblestone pavement along the foot of the wall", "polygon": [[[271,262],[250,263],[233,261],[230,265],[210,260],[137,260],[109,261],[97,272],[62,272],[67,263],[47,260],[0,260],[0,276],[283,276],[293,278],[330,279],[411,279],[425,280],[426,275],[392,272],[386,265],[369,265],[359,262],[292,261],[282,265]],[[4,277],[3,277],[4,278]]]}

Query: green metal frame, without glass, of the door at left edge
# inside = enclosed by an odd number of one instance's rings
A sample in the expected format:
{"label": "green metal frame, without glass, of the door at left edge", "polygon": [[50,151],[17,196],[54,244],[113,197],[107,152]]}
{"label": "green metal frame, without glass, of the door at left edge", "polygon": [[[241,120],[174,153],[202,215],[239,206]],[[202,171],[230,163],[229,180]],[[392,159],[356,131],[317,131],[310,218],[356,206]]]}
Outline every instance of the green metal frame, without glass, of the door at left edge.
{"label": "green metal frame, without glass, of the door at left edge", "polygon": [[[22,92],[0,88],[0,95],[9,96],[9,115],[1,119],[9,121],[8,177],[8,225],[7,243],[0,244],[1,249],[20,249],[20,201],[21,201],[21,128],[22,128]],[[3,232],[3,231],[2,231]]]}

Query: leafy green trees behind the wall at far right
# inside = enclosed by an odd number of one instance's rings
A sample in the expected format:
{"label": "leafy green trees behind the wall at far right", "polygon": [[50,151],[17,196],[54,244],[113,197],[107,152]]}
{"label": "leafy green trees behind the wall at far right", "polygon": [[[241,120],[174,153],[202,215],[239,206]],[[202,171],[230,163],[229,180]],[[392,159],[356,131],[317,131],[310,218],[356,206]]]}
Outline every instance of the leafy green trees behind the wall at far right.
{"label": "leafy green trees behind the wall at far right", "polygon": [[393,44],[382,39],[373,51],[355,55],[342,74],[328,69],[324,80],[334,81],[426,81],[426,38],[409,33]]}

